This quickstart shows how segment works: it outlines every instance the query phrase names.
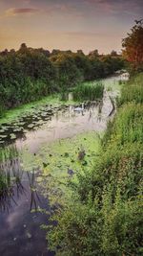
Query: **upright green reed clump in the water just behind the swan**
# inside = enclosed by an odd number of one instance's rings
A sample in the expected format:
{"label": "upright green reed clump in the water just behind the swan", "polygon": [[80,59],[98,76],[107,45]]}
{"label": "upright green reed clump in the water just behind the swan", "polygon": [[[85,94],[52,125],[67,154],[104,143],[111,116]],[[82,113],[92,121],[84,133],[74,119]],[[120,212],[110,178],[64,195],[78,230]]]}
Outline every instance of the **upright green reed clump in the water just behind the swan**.
{"label": "upright green reed clump in the water just behind the swan", "polygon": [[73,90],[74,101],[96,101],[103,98],[102,82],[88,82],[77,85]]}

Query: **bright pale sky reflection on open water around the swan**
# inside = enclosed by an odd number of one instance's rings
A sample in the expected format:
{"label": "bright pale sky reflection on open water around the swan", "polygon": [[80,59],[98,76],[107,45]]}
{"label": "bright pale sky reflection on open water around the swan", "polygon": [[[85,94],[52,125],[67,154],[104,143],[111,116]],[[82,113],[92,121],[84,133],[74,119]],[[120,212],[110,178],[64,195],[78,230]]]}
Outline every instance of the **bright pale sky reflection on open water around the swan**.
{"label": "bright pale sky reflection on open water around the swan", "polygon": [[[76,106],[56,111],[51,120],[44,122],[41,128],[26,133],[26,140],[18,139],[18,149],[27,147],[31,152],[38,151],[42,143],[51,143],[57,139],[72,137],[83,131],[103,131],[112,111],[108,92],[104,93],[103,102],[87,103],[82,111],[74,111]],[[81,108],[81,105],[78,105]]]}

